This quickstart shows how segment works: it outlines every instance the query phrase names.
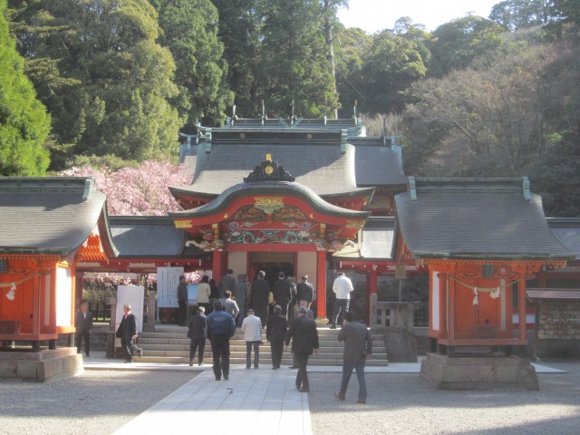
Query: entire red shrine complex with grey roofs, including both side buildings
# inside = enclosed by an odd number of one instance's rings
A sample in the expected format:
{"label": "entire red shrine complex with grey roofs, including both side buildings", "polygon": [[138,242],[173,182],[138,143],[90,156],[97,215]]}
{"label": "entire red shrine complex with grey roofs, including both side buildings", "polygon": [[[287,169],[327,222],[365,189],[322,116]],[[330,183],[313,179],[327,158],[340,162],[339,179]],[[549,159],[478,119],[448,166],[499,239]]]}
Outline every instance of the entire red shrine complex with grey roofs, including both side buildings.
{"label": "entire red shrine complex with grey roofs, including both side buildings", "polygon": [[580,221],[550,224],[527,178],[407,177],[395,138],[366,137],[356,117],[200,127],[180,161],[192,182],[169,188],[182,210],[168,217],[109,216],[92,179],[0,178],[0,341],[53,350],[73,332],[85,272],[308,275],[325,325],[345,270],[364,276],[363,314],[377,327],[398,325],[380,313],[379,276],[420,274],[430,283],[423,372],[447,388],[432,373],[469,350],[523,355],[527,281],[577,275]]}

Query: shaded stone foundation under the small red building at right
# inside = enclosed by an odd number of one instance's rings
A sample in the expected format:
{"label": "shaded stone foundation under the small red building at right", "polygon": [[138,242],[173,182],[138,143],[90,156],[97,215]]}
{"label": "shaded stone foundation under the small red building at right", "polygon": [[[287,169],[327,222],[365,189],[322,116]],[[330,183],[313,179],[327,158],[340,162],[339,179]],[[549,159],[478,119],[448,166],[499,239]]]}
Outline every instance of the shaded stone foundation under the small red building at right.
{"label": "shaded stone foundation under the small red building at right", "polygon": [[449,357],[427,353],[420,377],[440,390],[538,391],[536,369],[527,358],[503,355]]}

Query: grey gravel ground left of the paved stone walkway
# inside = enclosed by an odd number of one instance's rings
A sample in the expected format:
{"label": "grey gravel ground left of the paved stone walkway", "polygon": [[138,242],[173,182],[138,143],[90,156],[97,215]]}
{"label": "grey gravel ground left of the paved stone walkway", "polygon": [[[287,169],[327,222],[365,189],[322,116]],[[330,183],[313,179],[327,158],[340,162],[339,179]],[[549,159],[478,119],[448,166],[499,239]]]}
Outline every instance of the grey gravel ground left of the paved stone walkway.
{"label": "grey gravel ground left of the paved stone walkway", "polygon": [[0,434],[112,433],[194,377],[87,370],[51,383],[0,380]]}

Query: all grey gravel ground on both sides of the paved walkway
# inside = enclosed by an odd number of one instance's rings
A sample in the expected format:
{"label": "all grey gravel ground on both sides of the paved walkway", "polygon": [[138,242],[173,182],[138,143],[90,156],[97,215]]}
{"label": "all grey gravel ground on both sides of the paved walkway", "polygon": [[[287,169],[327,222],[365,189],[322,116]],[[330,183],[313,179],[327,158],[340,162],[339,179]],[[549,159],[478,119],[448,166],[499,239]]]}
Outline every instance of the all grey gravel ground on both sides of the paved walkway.
{"label": "all grey gravel ground on both sides of the paved walkway", "polygon": [[[439,391],[419,374],[367,373],[356,403],[353,374],[337,401],[340,373],[309,373],[313,435],[580,433],[580,362],[544,362],[540,391]],[[86,371],[62,382],[0,381],[0,434],[109,434],[192,379],[191,372]],[[138,382],[135,382],[135,381]]]}

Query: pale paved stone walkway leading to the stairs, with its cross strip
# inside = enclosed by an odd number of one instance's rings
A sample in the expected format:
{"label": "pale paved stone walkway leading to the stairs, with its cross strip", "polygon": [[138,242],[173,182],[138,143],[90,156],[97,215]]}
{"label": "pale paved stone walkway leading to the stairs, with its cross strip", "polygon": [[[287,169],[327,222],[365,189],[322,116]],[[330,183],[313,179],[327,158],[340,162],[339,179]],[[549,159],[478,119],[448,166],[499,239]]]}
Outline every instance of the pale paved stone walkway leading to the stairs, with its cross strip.
{"label": "pale paved stone walkway leading to the stairs, with its cross strip", "polygon": [[[535,364],[536,371],[554,372]],[[92,353],[85,370],[191,371],[198,376],[115,431],[118,435],[183,435],[191,430],[212,435],[312,435],[309,394],[295,390],[295,370],[231,367],[229,380],[216,381],[211,366],[108,360]],[[341,372],[341,367],[311,366],[308,372]],[[367,367],[366,372],[418,373],[420,362]],[[556,371],[562,372],[562,371]]]}

